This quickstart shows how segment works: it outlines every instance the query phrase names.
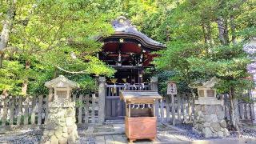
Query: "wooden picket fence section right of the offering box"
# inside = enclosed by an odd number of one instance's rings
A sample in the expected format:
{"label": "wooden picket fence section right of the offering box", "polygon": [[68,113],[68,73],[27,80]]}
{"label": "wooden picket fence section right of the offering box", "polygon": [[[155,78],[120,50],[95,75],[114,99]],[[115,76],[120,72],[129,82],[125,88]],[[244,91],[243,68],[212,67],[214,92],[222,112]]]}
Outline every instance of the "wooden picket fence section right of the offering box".
{"label": "wooden picket fence section right of the offering box", "polygon": [[[224,111],[225,118],[230,122],[230,101],[228,94],[222,94],[224,99]],[[158,121],[161,122],[172,122],[172,123],[181,123],[181,122],[192,122],[194,119],[194,102],[191,99],[190,94],[181,94],[174,97],[174,108],[172,106],[171,98],[165,97],[158,102],[156,102],[156,116]],[[254,114],[254,103],[245,102],[239,100],[237,104],[237,113],[242,123],[252,123],[255,120]]]}

